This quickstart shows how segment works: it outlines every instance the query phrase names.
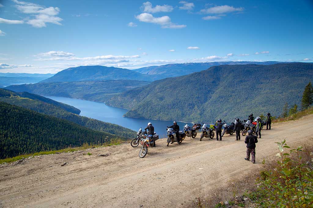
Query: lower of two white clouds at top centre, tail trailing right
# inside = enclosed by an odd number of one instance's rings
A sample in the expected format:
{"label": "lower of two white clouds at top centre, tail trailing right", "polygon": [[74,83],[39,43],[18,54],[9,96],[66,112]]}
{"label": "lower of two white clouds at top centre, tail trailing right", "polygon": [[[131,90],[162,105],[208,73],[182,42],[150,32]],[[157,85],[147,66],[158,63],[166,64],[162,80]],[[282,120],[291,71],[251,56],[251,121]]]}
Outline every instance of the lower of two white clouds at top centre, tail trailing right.
{"label": "lower of two white clouds at top centre, tail trailing right", "polygon": [[149,13],[141,13],[140,15],[137,15],[136,18],[141,22],[161,25],[162,28],[179,29],[186,27],[186,25],[177,25],[172,23],[169,16],[153,17],[153,15]]}

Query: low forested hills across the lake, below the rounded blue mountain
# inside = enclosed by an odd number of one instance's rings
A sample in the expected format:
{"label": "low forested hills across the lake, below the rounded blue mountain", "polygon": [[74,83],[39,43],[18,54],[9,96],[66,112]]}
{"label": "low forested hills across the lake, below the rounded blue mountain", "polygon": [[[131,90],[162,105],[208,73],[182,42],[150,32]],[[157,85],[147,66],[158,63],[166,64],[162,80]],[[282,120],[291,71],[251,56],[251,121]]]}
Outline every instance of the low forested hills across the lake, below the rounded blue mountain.
{"label": "low forested hills across the lake, below the rounded blue mountain", "polygon": [[59,96],[105,102],[114,95],[127,90],[148,85],[150,82],[139,80],[102,80],[80,82],[53,82],[28,85],[12,85],[6,89],[17,92]]}

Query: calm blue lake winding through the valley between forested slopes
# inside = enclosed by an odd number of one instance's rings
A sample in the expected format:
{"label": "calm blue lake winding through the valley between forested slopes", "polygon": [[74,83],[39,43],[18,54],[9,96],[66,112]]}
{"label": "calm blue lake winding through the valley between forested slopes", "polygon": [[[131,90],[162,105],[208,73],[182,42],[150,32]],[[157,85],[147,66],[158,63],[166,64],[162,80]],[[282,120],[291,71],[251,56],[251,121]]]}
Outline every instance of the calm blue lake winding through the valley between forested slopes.
{"label": "calm blue lake winding through the valley between forested slopes", "polygon": [[[126,128],[138,131],[140,127],[145,128],[148,122],[151,122],[154,126],[154,131],[160,136],[166,136],[166,126],[171,126],[172,121],[160,121],[160,120],[148,120],[148,119],[135,119],[123,117],[128,111],[126,109],[115,108],[105,105],[104,103],[79,100],[64,97],[45,96],[55,101],[69,104],[81,110],[80,115],[86,116],[100,121],[109,123],[115,123]],[[186,123],[177,122],[180,129],[182,130]],[[189,126],[192,125],[189,123]]]}

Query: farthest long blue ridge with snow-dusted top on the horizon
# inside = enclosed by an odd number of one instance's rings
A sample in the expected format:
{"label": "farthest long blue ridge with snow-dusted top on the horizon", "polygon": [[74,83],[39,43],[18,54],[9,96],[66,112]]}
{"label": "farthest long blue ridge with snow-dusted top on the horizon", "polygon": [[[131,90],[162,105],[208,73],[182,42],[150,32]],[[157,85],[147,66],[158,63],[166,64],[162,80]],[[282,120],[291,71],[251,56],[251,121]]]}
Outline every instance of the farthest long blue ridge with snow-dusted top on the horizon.
{"label": "farthest long blue ridge with snow-dusted top on the horizon", "polygon": [[181,63],[181,64],[167,64],[161,66],[148,66],[140,69],[135,69],[134,71],[146,74],[146,75],[158,75],[162,78],[167,77],[177,77],[188,75],[193,72],[198,72],[206,70],[211,66],[217,65],[245,65],[245,64],[258,64],[258,65],[272,65],[278,63],[286,63],[279,61],[215,61],[215,62],[194,62],[194,63]]}

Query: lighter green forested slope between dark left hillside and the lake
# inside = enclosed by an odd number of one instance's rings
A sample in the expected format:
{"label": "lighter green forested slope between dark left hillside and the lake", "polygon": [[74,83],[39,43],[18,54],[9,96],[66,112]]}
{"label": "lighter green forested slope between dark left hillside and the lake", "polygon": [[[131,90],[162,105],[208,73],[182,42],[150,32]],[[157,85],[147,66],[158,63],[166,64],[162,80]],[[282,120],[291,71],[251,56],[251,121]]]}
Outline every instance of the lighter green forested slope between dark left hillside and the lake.
{"label": "lighter green forested slope between dark left hillside and the lake", "polygon": [[[135,131],[129,128],[96,119],[90,119],[85,116],[79,116],[62,109],[59,106],[45,103],[40,99],[35,99],[40,98],[41,96],[39,95],[27,93],[28,97],[22,97],[25,93],[19,94],[20,96],[18,96],[18,94],[19,93],[10,90],[0,89],[0,101],[31,109],[37,111],[38,113],[52,115],[60,119],[66,119],[93,130],[114,134],[116,137],[121,139],[129,139],[135,135]],[[33,99],[30,99],[29,97],[33,97]]]}

